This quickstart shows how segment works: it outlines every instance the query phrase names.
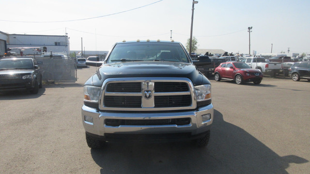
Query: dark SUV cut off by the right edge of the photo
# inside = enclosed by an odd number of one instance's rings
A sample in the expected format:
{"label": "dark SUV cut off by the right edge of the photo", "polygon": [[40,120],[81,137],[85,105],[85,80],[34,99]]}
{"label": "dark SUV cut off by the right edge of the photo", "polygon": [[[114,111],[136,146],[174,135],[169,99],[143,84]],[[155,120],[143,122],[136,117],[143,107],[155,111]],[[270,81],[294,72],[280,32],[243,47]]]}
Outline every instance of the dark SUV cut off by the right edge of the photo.
{"label": "dark SUV cut off by the right edge of the photo", "polygon": [[289,76],[292,77],[294,81],[299,81],[300,79],[307,79],[310,81],[310,62],[296,62],[289,69]]}

